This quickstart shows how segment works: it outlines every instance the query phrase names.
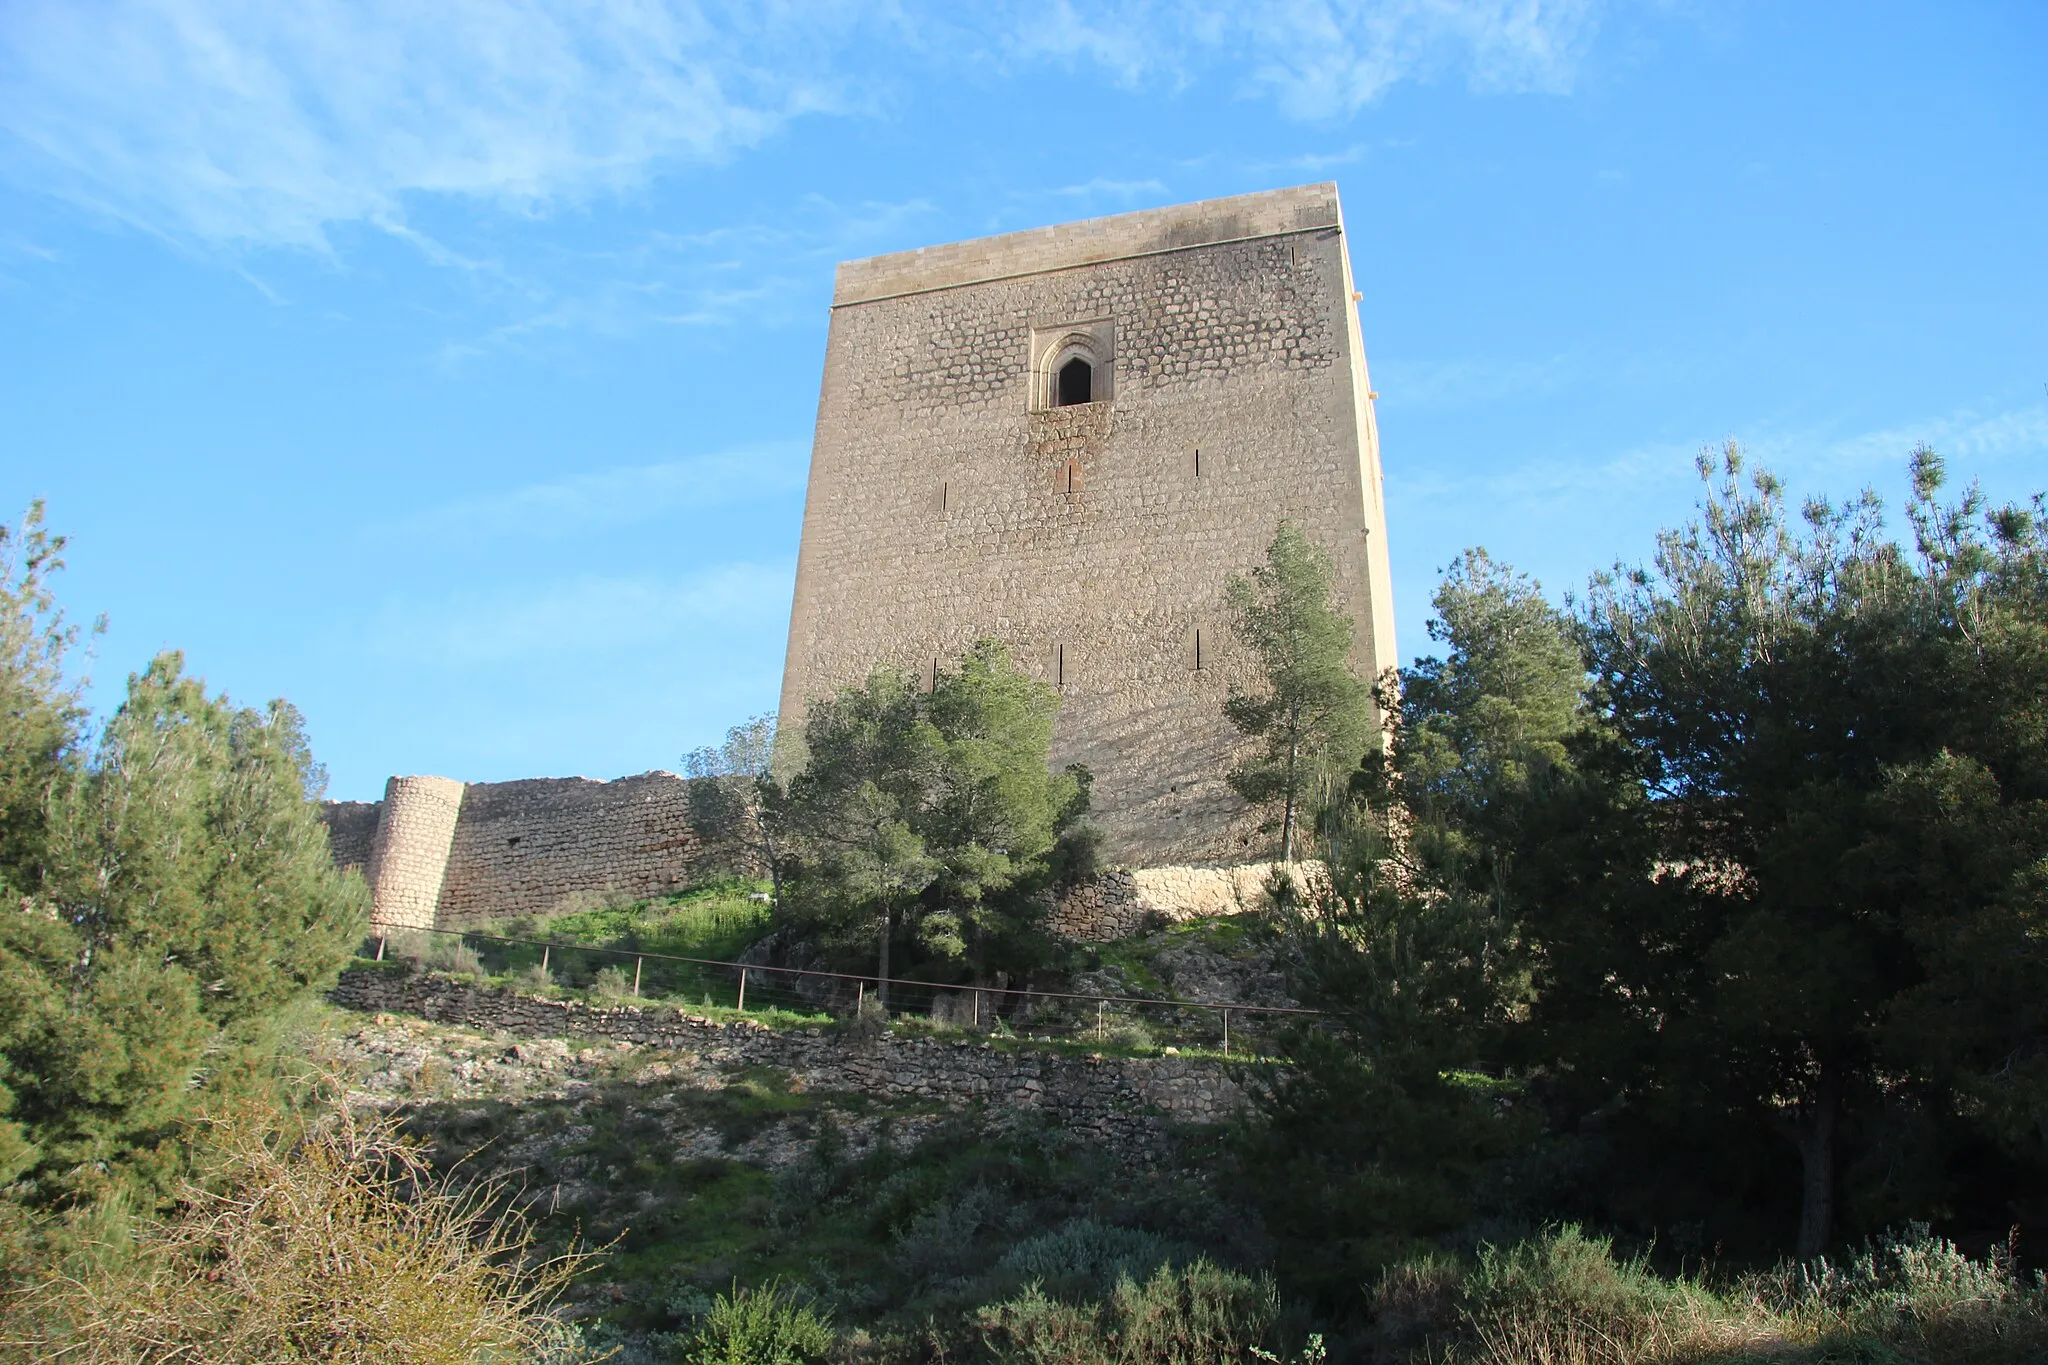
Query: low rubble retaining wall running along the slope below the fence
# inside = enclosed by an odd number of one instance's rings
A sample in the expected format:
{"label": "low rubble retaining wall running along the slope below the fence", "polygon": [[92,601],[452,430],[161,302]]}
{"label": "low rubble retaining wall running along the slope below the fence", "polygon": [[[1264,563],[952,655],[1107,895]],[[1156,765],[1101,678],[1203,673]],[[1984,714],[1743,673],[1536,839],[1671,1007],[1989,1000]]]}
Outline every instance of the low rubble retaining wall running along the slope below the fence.
{"label": "low rubble retaining wall running along the slope below the fence", "polygon": [[1120,1146],[1155,1144],[1159,1115],[1221,1124],[1245,1105],[1235,1068],[1202,1058],[1067,1056],[887,1033],[862,1040],[827,1029],[770,1029],[680,1009],[549,1001],[438,972],[356,968],[342,972],[330,999],[344,1009],[408,1013],[520,1038],[610,1038],[678,1048],[719,1066],[778,1066],[813,1091],[1030,1107],[1071,1132]]}

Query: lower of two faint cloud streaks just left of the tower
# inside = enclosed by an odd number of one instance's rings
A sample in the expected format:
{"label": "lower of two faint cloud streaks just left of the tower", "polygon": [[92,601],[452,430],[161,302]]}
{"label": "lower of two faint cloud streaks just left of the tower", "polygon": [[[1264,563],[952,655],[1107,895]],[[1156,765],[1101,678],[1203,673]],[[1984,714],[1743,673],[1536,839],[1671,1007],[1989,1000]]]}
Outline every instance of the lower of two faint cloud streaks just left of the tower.
{"label": "lower of two faint cloud streaks just left of the tower", "polygon": [[778,634],[795,563],[725,563],[684,577],[578,577],[541,591],[387,604],[367,649],[412,667],[555,663],[612,653],[645,657],[674,643]]}

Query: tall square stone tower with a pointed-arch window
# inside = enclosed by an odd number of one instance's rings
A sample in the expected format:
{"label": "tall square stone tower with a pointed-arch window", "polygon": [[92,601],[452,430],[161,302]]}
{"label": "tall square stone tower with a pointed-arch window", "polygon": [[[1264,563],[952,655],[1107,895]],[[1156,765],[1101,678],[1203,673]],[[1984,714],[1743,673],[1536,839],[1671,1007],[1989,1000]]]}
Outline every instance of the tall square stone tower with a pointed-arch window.
{"label": "tall square stone tower with a pointed-arch window", "polygon": [[1266,855],[1223,718],[1223,585],[1282,518],[1356,667],[1395,661],[1380,452],[1335,184],[840,266],[782,720],[983,634],[1061,690],[1130,864]]}

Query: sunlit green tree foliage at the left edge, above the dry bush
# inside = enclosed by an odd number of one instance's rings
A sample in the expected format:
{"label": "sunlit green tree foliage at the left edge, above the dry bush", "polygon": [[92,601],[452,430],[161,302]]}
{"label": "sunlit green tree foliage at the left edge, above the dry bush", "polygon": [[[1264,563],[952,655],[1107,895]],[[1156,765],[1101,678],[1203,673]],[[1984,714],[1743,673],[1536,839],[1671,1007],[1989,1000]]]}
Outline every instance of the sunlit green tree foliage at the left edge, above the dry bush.
{"label": "sunlit green tree foliage at the left edge, above the dry bush", "polygon": [[360,931],[322,772],[285,702],[236,708],[160,655],[88,743],[33,512],[0,581],[0,1185],[162,1187],[223,1048],[330,980]]}

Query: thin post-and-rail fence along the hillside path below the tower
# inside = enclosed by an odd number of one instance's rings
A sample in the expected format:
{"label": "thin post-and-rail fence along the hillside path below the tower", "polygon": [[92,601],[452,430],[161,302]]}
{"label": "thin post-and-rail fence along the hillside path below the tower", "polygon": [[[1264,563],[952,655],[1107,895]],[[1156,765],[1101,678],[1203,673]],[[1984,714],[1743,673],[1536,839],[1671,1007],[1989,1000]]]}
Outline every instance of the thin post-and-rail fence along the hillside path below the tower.
{"label": "thin post-and-rail fence along the hillside path below the tower", "polygon": [[561,986],[600,997],[729,1009],[770,1021],[776,1015],[801,1021],[879,1013],[891,1021],[1139,1052],[1176,1046],[1225,1056],[1260,1054],[1286,1023],[1321,1017],[1321,1011],[1294,1005],[952,984],[477,929],[379,929],[360,943],[358,956],[508,978],[535,988]]}

